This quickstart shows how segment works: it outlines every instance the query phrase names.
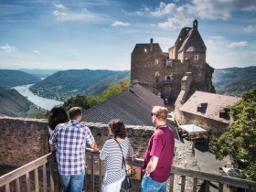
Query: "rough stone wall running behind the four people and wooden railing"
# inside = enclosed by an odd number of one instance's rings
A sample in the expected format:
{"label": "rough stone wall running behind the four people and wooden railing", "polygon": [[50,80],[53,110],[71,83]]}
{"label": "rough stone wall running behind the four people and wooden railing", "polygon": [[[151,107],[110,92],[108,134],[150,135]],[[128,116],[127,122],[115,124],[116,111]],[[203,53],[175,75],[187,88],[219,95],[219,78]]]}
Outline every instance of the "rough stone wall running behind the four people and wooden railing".
{"label": "rough stone wall running behind the four people and wooden railing", "polygon": [[[84,123],[91,129],[99,148],[108,137],[107,124]],[[144,158],[149,138],[155,128],[126,125],[128,137],[138,158]],[[0,165],[25,165],[48,154],[48,123],[46,120],[0,117]],[[199,170],[197,161],[186,144],[176,141],[174,165]],[[90,169],[89,169],[90,170]],[[174,191],[180,191],[180,176],[176,176]],[[24,183],[24,182],[23,182]],[[138,184],[138,188],[139,188]],[[192,180],[187,178],[187,191]],[[1,191],[1,188],[0,188]],[[140,191],[139,189],[137,191]]]}

